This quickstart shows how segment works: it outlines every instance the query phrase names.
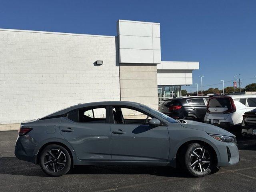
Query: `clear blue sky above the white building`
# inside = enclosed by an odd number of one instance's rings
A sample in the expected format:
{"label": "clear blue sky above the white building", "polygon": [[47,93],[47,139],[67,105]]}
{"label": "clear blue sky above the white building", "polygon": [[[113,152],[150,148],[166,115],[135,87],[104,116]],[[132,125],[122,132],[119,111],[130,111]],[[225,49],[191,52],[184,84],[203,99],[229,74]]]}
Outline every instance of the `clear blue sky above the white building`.
{"label": "clear blue sky above the white building", "polygon": [[[160,22],[162,61],[199,61],[193,83],[256,82],[256,0],[1,0],[0,28],[116,35],[116,21]],[[247,79],[247,80],[246,80]],[[225,83],[232,86],[232,82]],[[194,85],[184,86],[188,91]]]}

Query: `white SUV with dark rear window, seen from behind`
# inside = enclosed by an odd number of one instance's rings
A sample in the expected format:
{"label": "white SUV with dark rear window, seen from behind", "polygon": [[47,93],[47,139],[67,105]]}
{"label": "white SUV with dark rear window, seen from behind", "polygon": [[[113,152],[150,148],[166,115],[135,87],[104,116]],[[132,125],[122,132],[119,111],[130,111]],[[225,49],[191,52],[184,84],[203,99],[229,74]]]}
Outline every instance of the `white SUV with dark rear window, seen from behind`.
{"label": "white SUV with dark rear window, seen from behind", "polygon": [[242,123],[243,114],[256,108],[256,95],[216,96],[207,104],[204,122],[220,127]]}

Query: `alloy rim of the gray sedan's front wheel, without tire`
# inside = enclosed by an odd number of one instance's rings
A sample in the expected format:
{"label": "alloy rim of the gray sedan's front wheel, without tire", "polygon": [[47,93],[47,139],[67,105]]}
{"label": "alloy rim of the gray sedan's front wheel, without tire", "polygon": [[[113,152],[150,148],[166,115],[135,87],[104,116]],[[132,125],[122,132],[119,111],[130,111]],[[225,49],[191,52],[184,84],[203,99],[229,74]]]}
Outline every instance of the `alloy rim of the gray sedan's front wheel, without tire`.
{"label": "alloy rim of the gray sedan's front wheel, without tire", "polygon": [[204,148],[196,148],[190,154],[190,166],[198,172],[203,173],[208,170],[211,163],[209,152]]}

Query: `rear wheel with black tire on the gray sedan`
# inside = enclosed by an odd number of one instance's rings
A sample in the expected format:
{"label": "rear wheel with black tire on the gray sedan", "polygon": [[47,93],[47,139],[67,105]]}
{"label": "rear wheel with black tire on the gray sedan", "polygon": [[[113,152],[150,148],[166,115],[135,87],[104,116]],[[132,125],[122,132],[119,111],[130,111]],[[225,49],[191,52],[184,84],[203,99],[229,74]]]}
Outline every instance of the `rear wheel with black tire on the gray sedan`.
{"label": "rear wheel with black tire on the gray sedan", "polygon": [[64,147],[52,144],[42,150],[39,163],[45,174],[58,177],[70,170],[71,158]]}

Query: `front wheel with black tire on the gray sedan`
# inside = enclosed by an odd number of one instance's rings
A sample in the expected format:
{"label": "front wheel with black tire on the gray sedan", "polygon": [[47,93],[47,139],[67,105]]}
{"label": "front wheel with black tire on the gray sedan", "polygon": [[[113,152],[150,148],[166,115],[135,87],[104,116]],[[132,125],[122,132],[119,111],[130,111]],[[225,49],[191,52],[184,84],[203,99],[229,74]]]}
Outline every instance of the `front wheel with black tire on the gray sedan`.
{"label": "front wheel with black tire on the gray sedan", "polygon": [[188,144],[184,149],[184,168],[195,177],[203,177],[211,172],[216,172],[213,150],[198,143]]}

